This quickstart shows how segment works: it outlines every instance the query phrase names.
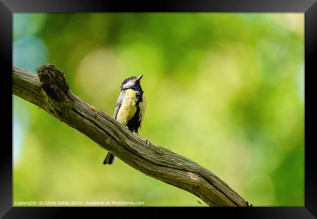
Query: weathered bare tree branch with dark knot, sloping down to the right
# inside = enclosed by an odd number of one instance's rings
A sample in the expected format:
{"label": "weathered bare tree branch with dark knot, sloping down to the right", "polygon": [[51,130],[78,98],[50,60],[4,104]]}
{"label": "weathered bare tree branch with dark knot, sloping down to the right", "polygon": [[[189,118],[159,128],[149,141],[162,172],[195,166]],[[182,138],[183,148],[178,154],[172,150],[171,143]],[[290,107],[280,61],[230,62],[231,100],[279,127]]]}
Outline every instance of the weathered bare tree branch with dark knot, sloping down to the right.
{"label": "weathered bare tree branch with dark knot, sloping down to the right", "polygon": [[41,66],[37,72],[13,67],[13,94],[79,130],[145,175],[184,189],[210,206],[249,206],[208,169],[161,146],[147,146],[118,121],[82,101],[54,65]]}

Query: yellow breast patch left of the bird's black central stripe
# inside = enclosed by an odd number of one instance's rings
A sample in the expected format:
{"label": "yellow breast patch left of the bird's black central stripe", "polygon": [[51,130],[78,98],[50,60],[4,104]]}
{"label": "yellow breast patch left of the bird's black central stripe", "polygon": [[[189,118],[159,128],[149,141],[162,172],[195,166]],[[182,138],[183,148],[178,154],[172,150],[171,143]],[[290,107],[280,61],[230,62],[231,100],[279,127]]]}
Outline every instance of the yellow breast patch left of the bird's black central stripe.
{"label": "yellow breast patch left of the bird's black central stripe", "polygon": [[117,120],[122,125],[126,126],[128,124],[128,121],[134,116],[137,111],[137,98],[136,91],[133,91],[132,89],[128,89],[123,92],[125,95],[117,114]]}

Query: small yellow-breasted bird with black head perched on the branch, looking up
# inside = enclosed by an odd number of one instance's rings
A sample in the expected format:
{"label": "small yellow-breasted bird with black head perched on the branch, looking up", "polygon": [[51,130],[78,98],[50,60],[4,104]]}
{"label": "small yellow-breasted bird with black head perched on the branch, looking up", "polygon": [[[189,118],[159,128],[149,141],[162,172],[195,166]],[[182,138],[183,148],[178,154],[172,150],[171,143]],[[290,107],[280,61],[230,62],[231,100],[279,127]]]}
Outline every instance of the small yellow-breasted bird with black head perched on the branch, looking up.
{"label": "small yellow-breasted bird with black head perched on the branch, looking up", "polygon": [[[117,100],[113,118],[119,121],[123,126],[140,138],[139,128],[144,118],[146,111],[146,96],[142,91],[140,80],[144,74],[139,77],[133,76],[125,79],[120,86],[120,94]],[[149,141],[145,139],[147,145]],[[115,155],[107,153],[103,164],[113,164]]]}

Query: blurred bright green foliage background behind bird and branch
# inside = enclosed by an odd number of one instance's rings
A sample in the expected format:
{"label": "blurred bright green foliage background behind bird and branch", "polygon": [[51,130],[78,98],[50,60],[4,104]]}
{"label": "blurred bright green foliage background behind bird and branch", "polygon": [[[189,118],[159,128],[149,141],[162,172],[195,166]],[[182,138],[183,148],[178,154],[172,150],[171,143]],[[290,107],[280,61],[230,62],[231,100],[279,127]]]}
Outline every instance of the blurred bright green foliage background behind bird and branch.
{"label": "blurred bright green foliage background behind bird and branch", "polygon": [[[304,14],[14,14],[14,65],[55,64],[113,115],[144,73],[143,138],[208,168],[255,206],[304,205]],[[14,101],[14,201],[205,206],[38,107]]]}

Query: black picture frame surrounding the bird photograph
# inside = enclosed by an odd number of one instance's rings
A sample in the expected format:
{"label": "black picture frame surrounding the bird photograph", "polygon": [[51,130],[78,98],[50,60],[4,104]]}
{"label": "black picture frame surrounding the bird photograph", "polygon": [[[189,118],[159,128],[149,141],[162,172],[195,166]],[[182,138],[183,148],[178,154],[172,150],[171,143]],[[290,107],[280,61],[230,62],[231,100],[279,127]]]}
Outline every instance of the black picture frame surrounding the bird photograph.
{"label": "black picture frame surrounding the bird photograph", "polygon": [[[212,211],[221,217],[243,218],[315,218],[317,217],[317,171],[314,151],[314,91],[312,91],[317,57],[317,0],[200,0],[121,2],[101,0],[0,0],[0,60],[2,75],[7,79],[12,70],[12,18],[15,12],[301,12],[305,13],[305,206],[194,208]],[[11,78],[12,79],[12,78]],[[5,81],[7,81],[5,80]],[[1,83],[1,94],[12,103],[10,83]],[[11,87],[12,89],[12,87]],[[7,95],[6,95],[7,94]],[[315,98],[316,99],[316,98]],[[3,113],[12,113],[12,104],[3,104]],[[13,115],[13,114],[12,114]],[[9,118],[9,116],[7,116]],[[8,125],[12,124],[8,121]],[[4,126],[4,125],[3,125]],[[9,125],[9,127],[11,127]],[[5,128],[7,129],[7,128]],[[11,129],[12,130],[12,129]],[[7,142],[13,136],[5,135]],[[4,138],[5,138],[4,137]],[[11,138],[10,138],[11,137]],[[56,218],[70,211],[72,216],[84,213],[108,216],[123,214],[115,207],[12,207],[12,148],[1,141],[0,216],[3,218]],[[287,170],[285,170],[287,171]],[[140,208],[129,208],[135,211]],[[74,211],[76,210],[76,212]],[[182,210],[183,211],[183,210]],[[186,211],[187,212],[187,211]],[[207,214],[210,214],[206,212]]]}

